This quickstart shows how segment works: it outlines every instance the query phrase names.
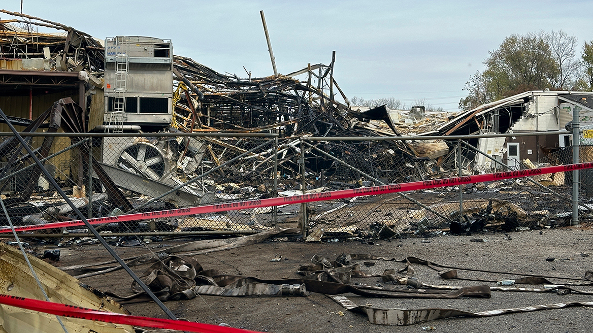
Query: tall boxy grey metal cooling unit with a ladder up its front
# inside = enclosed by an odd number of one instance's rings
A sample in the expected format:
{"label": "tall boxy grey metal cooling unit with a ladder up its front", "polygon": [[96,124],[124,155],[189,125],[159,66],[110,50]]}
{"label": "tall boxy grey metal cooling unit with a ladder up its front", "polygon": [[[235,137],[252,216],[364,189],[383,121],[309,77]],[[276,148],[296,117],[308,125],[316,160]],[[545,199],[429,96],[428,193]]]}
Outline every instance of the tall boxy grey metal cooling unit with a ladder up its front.
{"label": "tall boxy grey metal cooling unit with a ladder up its front", "polygon": [[[171,122],[173,44],[152,37],[105,40],[105,117],[113,132],[123,125],[162,129]],[[117,129],[120,129],[118,131]]]}

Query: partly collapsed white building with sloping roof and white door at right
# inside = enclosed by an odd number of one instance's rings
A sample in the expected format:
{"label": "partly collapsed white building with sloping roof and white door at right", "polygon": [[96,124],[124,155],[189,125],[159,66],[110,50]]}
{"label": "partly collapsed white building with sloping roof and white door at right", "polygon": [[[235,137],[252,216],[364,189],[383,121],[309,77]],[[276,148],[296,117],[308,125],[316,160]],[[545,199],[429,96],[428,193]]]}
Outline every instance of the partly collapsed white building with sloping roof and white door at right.
{"label": "partly collapsed white building with sloping roof and white door at right", "polygon": [[[482,135],[493,133],[541,132],[535,136],[483,137],[469,143],[493,156],[511,169],[519,169],[521,162],[557,161],[563,149],[572,145],[572,135],[546,135],[545,132],[564,130],[575,107],[581,108],[581,126],[592,122],[592,92],[527,91],[503,100],[480,105],[464,111],[454,119],[422,135]],[[464,167],[475,171],[497,169],[493,161],[467,150]]]}

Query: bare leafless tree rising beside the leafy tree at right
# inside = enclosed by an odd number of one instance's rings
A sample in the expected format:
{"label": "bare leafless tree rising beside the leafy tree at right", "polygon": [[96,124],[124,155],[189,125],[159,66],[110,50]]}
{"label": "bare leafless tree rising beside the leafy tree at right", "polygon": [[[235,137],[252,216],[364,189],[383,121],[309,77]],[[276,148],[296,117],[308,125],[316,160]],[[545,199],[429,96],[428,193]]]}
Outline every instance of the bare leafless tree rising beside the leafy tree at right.
{"label": "bare leafless tree rising beside the leafy tree at right", "polygon": [[547,34],[550,52],[557,62],[558,75],[550,79],[554,88],[566,89],[577,79],[581,66],[576,55],[578,41],[575,36],[568,36],[564,31],[551,31]]}

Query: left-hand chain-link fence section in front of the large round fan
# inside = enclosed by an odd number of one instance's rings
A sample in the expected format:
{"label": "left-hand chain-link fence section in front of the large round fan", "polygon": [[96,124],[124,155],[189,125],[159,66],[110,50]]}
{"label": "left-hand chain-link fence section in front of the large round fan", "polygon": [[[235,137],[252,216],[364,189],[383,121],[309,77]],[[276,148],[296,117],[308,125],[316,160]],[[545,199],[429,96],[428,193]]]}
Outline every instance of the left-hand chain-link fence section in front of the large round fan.
{"label": "left-hand chain-link fence section in front of the large round fan", "polygon": [[[7,143],[11,137],[4,137]],[[50,142],[51,141],[51,142]],[[276,139],[232,136],[93,136],[28,139],[85,217],[151,212],[276,197]],[[44,152],[44,146],[50,146]],[[4,145],[2,196],[15,225],[78,219],[17,145]],[[55,155],[55,156],[52,156]],[[12,161],[12,162],[11,162]],[[272,228],[275,209],[109,223],[107,233],[253,233]],[[2,225],[8,225],[0,217]],[[87,233],[85,228],[58,230]],[[53,230],[51,232],[56,232]]]}

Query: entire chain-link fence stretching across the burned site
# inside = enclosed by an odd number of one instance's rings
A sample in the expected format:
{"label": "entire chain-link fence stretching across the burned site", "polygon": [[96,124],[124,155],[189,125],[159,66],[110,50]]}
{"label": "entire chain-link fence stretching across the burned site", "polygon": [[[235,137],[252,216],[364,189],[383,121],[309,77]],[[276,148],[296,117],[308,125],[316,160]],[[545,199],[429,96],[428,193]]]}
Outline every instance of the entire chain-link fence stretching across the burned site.
{"label": "entire chain-link fence stretching across the burned site", "polygon": [[[11,136],[2,135],[0,149],[4,149],[5,163],[0,185],[12,222],[36,225],[75,219],[68,205],[40,177],[39,168],[31,164],[22,149],[9,145]],[[525,140],[534,135],[515,134]],[[53,138],[51,143],[47,137]],[[28,136],[28,144],[87,218],[438,180],[572,161],[570,146],[531,152],[528,155],[535,156],[531,161],[521,158],[512,142],[505,142],[515,140],[512,135],[492,136],[502,140],[502,151],[484,149],[490,147],[480,142],[485,137],[435,141],[432,137],[280,139],[270,134],[238,133],[56,133]],[[585,141],[579,141],[582,152],[588,151]],[[398,149],[401,145],[417,154]],[[517,158],[519,164],[513,161]],[[589,162],[588,155],[582,155],[581,162]],[[582,179],[588,179],[589,173],[588,169],[582,170]],[[570,184],[570,172],[556,172],[407,193],[110,222],[98,230],[113,236],[230,235],[289,225],[299,226],[310,240],[319,240],[426,237],[484,228],[503,232],[553,228],[570,222]],[[582,182],[579,207],[585,217],[591,210],[587,204],[591,192],[588,181]],[[88,230],[78,226],[59,233],[45,232],[43,236],[59,237],[65,232],[73,237],[88,235]]]}

